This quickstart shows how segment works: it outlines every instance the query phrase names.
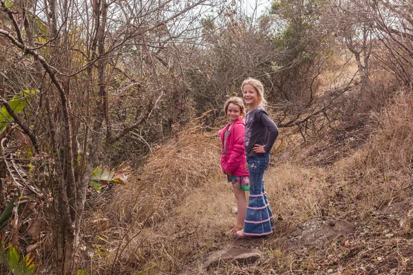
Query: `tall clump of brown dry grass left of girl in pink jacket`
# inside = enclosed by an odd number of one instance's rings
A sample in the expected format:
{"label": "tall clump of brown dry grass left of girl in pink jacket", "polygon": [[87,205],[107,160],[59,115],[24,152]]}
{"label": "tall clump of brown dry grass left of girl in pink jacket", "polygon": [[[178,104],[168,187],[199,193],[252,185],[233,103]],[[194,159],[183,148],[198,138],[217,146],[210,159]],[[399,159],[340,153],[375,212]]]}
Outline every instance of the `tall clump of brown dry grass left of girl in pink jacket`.
{"label": "tall clump of brown dry grass left of girl in pink jacket", "polygon": [[[171,208],[220,173],[220,141],[215,131],[193,123],[178,140],[159,146],[136,173],[136,180],[114,198],[114,209],[139,212],[151,225],[167,217]],[[125,214],[127,215],[127,214]],[[129,217],[131,218],[131,217]]]}

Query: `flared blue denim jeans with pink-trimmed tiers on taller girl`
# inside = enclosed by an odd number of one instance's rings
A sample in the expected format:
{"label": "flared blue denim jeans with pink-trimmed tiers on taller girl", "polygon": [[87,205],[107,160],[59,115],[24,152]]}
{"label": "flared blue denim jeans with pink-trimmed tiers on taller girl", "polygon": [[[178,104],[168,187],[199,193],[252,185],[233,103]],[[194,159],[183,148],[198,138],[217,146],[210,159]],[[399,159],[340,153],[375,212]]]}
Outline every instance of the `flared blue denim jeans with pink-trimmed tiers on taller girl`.
{"label": "flared blue denim jeans with pink-trimmed tiers on taller girl", "polygon": [[270,164],[270,154],[264,153],[258,157],[248,157],[248,172],[250,179],[250,194],[244,233],[251,236],[263,236],[273,233],[273,212],[271,211],[264,188],[264,172]]}

